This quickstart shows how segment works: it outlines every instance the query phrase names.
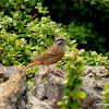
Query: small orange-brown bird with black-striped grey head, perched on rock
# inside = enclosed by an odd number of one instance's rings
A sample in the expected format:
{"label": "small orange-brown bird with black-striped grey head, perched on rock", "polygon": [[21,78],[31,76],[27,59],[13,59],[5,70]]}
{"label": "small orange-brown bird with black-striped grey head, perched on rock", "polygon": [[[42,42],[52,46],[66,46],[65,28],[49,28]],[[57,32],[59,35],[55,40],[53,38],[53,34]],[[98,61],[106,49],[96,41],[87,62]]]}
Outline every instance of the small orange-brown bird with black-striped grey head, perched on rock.
{"label": "small orange-brown bird with black-striped grey head, perched on rock", "polygon": [[64,36],[58,36],[56,37],[56,40],[53,45],[48,48],[45,52],[39,55],[28,66],[26,66],[24,70],[27,70],[36,64],[43,64],[47,65],[48,70],[51,71],[49,68],[49,64],[57,63],[61,60],[61,58],[65,53],[65,37]]}

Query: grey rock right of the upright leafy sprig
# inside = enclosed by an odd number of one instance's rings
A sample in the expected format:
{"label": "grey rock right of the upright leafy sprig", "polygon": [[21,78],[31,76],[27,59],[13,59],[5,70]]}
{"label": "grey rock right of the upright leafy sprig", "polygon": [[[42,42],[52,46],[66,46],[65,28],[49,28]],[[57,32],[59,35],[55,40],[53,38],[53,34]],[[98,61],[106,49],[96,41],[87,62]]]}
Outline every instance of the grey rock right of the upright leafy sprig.
{"label": "grey rock right of the upright leafy sprig", "polygon": [[[83,74],[83,92],[86,93],[86,99],[82,99],[83,109],[104,109],[104,106],[97,106],[102,101],[104,85],[109,83],[109,77],[99,77],[107,70],[105,66],[85,66]],[[99,75],[96,75],[98,73]],[[92,75],[92,76],[90,76]],[[86,78],[84,78],[86,77]],[[85,108],[86,107],[86,108]]]}

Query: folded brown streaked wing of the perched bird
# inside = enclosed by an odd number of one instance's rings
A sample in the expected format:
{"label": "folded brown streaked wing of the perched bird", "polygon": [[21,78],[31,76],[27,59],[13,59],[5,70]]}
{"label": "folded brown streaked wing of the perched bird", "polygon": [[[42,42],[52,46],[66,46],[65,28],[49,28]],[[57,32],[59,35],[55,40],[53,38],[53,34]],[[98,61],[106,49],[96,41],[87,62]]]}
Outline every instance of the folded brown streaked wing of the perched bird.
{"label": "folded brown streaked wing of the perched bird", "polygon": [[59,53],[58,48],[55,46],[51,46],[47,51],[38,56],[37,59],[35,59],[33,62],[47,60],[49,58],[58,56],[58,53]]}

